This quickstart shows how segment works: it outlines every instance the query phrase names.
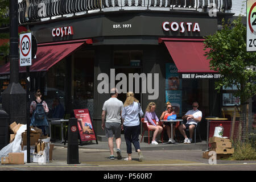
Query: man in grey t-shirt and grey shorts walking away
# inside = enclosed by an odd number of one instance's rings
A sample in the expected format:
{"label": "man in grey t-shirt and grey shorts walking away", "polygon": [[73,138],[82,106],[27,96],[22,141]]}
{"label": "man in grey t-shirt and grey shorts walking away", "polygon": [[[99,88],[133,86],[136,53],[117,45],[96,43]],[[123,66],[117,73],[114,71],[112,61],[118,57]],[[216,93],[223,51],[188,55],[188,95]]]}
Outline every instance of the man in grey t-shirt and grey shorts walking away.
{"label": "man in grey t-shirt and grey shorts walking away", "polygon": [[[106,133],[106,137],[108,137],[109,142],[109,150],[110,150],[110,157],[109,159],[115,159],[114,156],[114,144],[113,144],[113,135],[115,135],[115,143],[117,144],[117,158],[122,159],[121,155],[121,129],[122,129],[122,108],[123,102],[117,99],[118,92],[117,89],[113,88],[110,91],[111,98],[104,102],[102,107],[102,114],[101,114],[101,127]],[[106,122],[105,122],[106,117]]]}

